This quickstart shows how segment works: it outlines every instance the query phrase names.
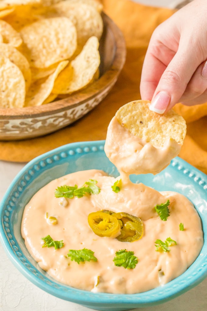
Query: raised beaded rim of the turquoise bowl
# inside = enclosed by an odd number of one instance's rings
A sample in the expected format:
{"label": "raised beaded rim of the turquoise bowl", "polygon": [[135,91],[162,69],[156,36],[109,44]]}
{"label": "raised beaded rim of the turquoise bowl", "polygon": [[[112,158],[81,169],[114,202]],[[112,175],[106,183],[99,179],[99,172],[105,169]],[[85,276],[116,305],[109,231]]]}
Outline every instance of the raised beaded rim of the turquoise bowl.
{"label": "raised beaded rim of the turquoise bowl", "polygon": [[[11,183],[0,205],[0,238],[2,244],[11,262],[26,278],[41,289],[61,299],[80,304],[84,304],[85,302],[97,304],[125,303],[133,305],[134,307],[141,304],[149,305],[168,301],[193,288],[205,279],[207,276],[207,251],[203,254],[202,249],[196,261],[186,272],[164,286],[138,294],[119,295],[92,293],[61,284],[52,280],[49,276],[47,277],[47,274],[44,275],[41,272],[41,269],[38,270],[31,264],[28,258],[25,257],[14,236],[11,215],[12,212],[15,211],[18,199],[30,183],[30,180],[35,179],[36,175],[38,175],[41,170],[47,170],[47,168],[57,164],[61,159],[70,160],[74,155],[83,155],[87,153],[96,154],[97,151],[105,155],[104,143],[105,141],[71,143],[38,156],[25,165]],[[204,173],[189,165],[179,157],[173,159],[170,166],[172,166],[174,170],[183,174],[185,178],[190,179],[192,183],[198,185],[200,189],[202,188],[207,194],[207,176]]]}

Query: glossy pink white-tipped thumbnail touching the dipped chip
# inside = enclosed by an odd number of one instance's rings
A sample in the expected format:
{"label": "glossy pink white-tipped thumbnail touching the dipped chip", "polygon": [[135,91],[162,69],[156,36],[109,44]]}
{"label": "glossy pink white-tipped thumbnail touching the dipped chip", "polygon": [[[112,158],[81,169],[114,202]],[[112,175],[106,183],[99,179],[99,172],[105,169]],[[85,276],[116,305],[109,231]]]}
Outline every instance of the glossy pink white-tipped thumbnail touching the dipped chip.
{"label": "glossy pink white-tipped thumbnail touching the dipped chip", "polygon": [[163,114],[170,103],[170,96],[164,91],[159,92],[151,101],[149,109],[158,114]]}

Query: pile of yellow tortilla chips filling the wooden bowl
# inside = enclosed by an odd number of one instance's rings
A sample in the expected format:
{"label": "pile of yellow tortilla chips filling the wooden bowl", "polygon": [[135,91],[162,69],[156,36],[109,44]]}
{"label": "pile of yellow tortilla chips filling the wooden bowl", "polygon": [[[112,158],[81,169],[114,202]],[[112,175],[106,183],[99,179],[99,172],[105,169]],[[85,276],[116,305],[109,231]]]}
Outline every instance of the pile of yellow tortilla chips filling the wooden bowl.
{"label": "pile of yellow tortilla chips filling the wooden bowl", "polygon": [[0,1],[0,108],[47,104],[98,78],[96,0]]}

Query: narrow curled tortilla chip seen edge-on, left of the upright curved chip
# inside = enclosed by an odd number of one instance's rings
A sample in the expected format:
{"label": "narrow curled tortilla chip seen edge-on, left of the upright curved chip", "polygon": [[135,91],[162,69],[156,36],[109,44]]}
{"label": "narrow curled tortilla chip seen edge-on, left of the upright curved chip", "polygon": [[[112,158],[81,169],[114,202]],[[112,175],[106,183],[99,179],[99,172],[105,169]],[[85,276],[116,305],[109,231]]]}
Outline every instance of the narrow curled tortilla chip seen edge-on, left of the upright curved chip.
{"label": "narrow curled tortilla chip seen edge-on, left of the upright curved chip", "polygon": [[54,81],[58,74],[67,66],[69,61],[65,60],[59,63],[56,70],[47,79],[40,79],[31,84],[29,91],[26,94],[25,106],[40,106],[47,100],[52,93]]}

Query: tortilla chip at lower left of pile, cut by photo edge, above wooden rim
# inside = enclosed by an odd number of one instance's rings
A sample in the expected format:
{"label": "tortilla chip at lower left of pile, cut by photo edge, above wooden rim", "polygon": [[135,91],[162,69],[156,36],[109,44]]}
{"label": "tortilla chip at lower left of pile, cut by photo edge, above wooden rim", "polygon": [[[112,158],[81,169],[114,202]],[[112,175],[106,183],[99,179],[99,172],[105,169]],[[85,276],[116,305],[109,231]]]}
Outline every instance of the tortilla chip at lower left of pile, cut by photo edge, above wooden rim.
{"label": "tortilla chip at lower left of pile, cut by photo edge, above wooden rim", "polygon": [[24,76],[9,58],[0,55],[0,107],[21,108],[25,102]]}

